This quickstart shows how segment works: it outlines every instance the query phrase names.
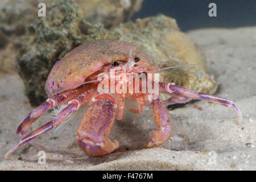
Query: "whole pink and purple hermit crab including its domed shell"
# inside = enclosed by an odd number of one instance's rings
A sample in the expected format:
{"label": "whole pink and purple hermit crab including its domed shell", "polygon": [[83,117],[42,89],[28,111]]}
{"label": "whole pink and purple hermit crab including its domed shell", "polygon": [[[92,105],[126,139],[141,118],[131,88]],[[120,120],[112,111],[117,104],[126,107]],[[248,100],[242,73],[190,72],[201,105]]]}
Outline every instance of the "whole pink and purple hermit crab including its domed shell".
{"label": "whole pink and purple hermit crab including its domed shell", "polygon": [[[158,130],[147,143],[147,148],[160,147],[168,139],[172,123],[166,106],[170,104],[183,103],[190,99],[216,102],[231,107],[240,121],[242,120],[241,111],[230,100],[185,89],[174,83],[155,80],[156,73],[161,70],[156,68],[154,62],[141,48],[122,40],[93,40],[76,47],[63,59],[57,61],[51,69],[46,81],[48,99],[20,122],[16,134],[21,139],[7,152],[6,158],[18,147],[28,142],[43,147],[33,139],[59,126],[73,111],[85,104],[89,104],[89,109],[76,132],[76,141],[86,154],[92,156],[106,155],[117,150],[119,143],[117,140],[110,140],[109,134],[114,119],[122,118],[124,99],[137,104],[137,108],[130,108],[133,113],[142,113],[144,105],[152,106]],[[114,78],[111,72],[114,72]],[[102,74],[105,75],[104,79],[101,79],[103,81],[98,79],[98,76]],[[159,94],[167,94],[170,98],[163,101],[156,92],[142,92],[145,86],[142,79],[139,79],[137,84],[136,82],[130,84],[131,80],[123,75],[139,77],[144,75],[146,78],[154,78],[147,81],[146,86],[154,85],[154,88],[157,86]],[[114,92],[111,92],[111,88],[109,92],[109,88],[106,89],[105,85],[103,89],[105,92],[99,92],[102,83],[111,85],[111,82],[114,84]],[[131,92],[123,92],[123,89],[126,89],[123,87],[124,82],[128,83],[129,91],[131,86]],[[119,92],[115,87],[117,85],[122,85]],[[52,121],[26,135],[28,128],[43,113],[63,104],[67,106]]]}

